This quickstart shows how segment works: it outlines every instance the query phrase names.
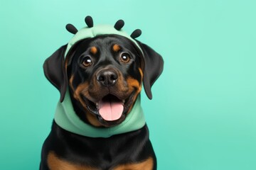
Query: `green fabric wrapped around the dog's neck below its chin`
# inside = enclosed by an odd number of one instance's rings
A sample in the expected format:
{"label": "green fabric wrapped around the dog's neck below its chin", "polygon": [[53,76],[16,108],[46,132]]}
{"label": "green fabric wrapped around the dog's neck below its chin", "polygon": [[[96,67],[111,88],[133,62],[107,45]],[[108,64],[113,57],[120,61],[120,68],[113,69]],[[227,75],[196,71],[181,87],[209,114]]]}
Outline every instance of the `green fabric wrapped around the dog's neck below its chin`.
{"label": "green fabric wrapped around the dog's neck below its chin", "polygon": [[57,104],[54,120],[64,130],[86,137],[110,137],[139,130],[145,125],[140,96],[137,97],[132,111],[127,115],[124,122],[111,128],[96,128],[80,120],[74,111],[68,91],[65,94],[64,101],[62,103],[59,101]]}

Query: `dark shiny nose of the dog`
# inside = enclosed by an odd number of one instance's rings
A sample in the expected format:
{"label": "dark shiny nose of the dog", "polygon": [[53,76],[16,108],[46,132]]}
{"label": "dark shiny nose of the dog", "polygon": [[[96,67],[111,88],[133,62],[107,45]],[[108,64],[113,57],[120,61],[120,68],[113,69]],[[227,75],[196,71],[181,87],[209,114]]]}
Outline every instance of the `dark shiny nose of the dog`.
{"label": "dark shiny nose of the dog", "polygon": [[113,86],[118,79],[117,72],[113,69],[104,69],[97,73],[97,81],[103,86]]}

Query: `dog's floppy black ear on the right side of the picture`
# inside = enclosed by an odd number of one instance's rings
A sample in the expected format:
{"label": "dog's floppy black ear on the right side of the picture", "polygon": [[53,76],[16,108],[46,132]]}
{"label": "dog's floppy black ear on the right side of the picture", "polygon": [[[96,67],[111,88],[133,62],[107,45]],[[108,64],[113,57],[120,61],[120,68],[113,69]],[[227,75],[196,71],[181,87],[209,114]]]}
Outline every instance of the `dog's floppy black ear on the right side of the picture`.
{"label": "dog's floppy black ear on the right side of the picture", "polygon": [[164,60],[157,52],[155,52],[148,45],[139,42],[139,46],[144,53],[144,61],[142,61],[142,67],[144,69],[143,84],[146,96],[152,99],[151,86],[153,86],[156,79],[159,78],[161,72],[164,69]]}

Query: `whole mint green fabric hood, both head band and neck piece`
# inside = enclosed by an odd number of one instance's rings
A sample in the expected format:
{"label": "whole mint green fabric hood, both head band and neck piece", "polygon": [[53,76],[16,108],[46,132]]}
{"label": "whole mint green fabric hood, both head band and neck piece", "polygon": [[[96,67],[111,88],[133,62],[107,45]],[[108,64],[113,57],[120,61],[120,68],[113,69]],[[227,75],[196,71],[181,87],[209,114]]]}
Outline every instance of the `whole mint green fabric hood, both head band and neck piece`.
{"label": "whole mint green fabric hood, both head band and neck piece", "polygon": [[[74,35],[74,37],[68,42],[67,49],[65,50],[65,56],[68,54],[70,48],[79,40],[85,38],[94,38],[97,35],[122,35],[132,42],[142,51],[138,43],[130,37],[123,30],[116,30],[114,26],[99,25],[92,28],[82,28]],[[142,52],[143,54],[143,52]],[[138,130],[145,125],[144,113],[140,103],[140,96],[137,97],[137,101],[134,103],[132,111],[127,115],[127,118],[121,124],[112,128],[95,128],[92,125],[84,123],[73,109],[73,105],[70,101],[70,94],[67,91],[64,101],[57,104],[55,111],[55,122],[63,129],[73,132],[78,135],[87,137],[110,137],[125,132],[131,132]]]}

